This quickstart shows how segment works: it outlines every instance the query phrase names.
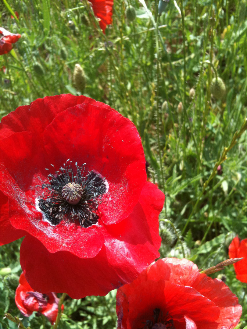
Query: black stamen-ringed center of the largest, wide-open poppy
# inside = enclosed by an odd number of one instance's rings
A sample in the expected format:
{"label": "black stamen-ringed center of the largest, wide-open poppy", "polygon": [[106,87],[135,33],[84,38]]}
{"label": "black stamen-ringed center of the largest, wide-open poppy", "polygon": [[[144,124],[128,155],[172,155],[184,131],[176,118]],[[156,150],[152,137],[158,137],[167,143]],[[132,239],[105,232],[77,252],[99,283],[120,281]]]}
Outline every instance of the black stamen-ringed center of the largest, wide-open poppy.
{"label": "black stamen-ringed center of the largest, wide-open poppy", "polygon": [[[43,213],[44,220],[57,225],[62,220],[78,222],[81,227],[96,224],[101,196],[108,191],[108,183],[94,170],[85,173],[85,165],[77,163],[74,175],[71,163],[49,174],[49,183],[43,184],[42,195],[36,199],[36,206]],[[48,170],[48,169],[47,169]]]}

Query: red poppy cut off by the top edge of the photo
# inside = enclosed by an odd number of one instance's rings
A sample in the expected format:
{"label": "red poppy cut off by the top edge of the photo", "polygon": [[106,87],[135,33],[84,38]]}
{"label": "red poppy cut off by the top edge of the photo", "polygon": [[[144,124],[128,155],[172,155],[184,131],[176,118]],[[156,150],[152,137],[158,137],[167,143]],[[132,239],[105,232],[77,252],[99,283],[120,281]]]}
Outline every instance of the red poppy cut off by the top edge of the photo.
{"label": "red poppy cut off by the top edge of the photo", "polygon": [[111,0],[90,0],[96,17],[100,19],[99,26],[105,33],[106,26],[112,23],[112,7]]}

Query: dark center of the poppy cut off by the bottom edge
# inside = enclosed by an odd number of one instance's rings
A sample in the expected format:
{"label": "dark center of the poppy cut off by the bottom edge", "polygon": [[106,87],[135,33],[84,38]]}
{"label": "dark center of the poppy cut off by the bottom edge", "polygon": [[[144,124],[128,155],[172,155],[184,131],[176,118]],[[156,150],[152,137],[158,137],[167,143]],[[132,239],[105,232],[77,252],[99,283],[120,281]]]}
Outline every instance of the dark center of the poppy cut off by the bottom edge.
{"label": "dark center of the poppy cut off by the bottom edge", "polygon": [[175,329],[175,327],[173,318],[168,312],[163,316],[163,312],[159,308],[155,308],[152,319],[145,322],[144,329]]}

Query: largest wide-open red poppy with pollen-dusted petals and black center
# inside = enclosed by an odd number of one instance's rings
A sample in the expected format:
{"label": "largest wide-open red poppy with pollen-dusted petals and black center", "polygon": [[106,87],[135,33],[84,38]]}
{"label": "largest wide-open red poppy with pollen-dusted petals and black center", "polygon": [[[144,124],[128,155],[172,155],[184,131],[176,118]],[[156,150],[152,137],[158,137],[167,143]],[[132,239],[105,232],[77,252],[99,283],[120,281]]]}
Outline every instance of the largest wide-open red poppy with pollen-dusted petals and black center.
{"label": "largest wide-open red poppy with pollen-dusted petals and black center", "polygon": [[146,179],[140,136],[110,106],[70,94],[21,106],[0,123],[0,243],[26,235],[35,291],[105,295],[159,256],[164,194]]}

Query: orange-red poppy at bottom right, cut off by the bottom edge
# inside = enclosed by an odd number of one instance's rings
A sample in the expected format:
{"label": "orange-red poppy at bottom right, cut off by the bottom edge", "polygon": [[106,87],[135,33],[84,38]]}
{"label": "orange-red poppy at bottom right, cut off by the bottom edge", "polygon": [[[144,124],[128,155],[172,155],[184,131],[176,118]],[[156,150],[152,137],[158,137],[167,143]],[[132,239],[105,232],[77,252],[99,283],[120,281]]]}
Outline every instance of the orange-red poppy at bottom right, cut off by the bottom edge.
{"label": "orange-red poppy at bottom right, cut off by the bottom edge", "polygon": [[186,259],[164,258],[117,291],[120,329],[231,329],[242,307],[219,279]]}

